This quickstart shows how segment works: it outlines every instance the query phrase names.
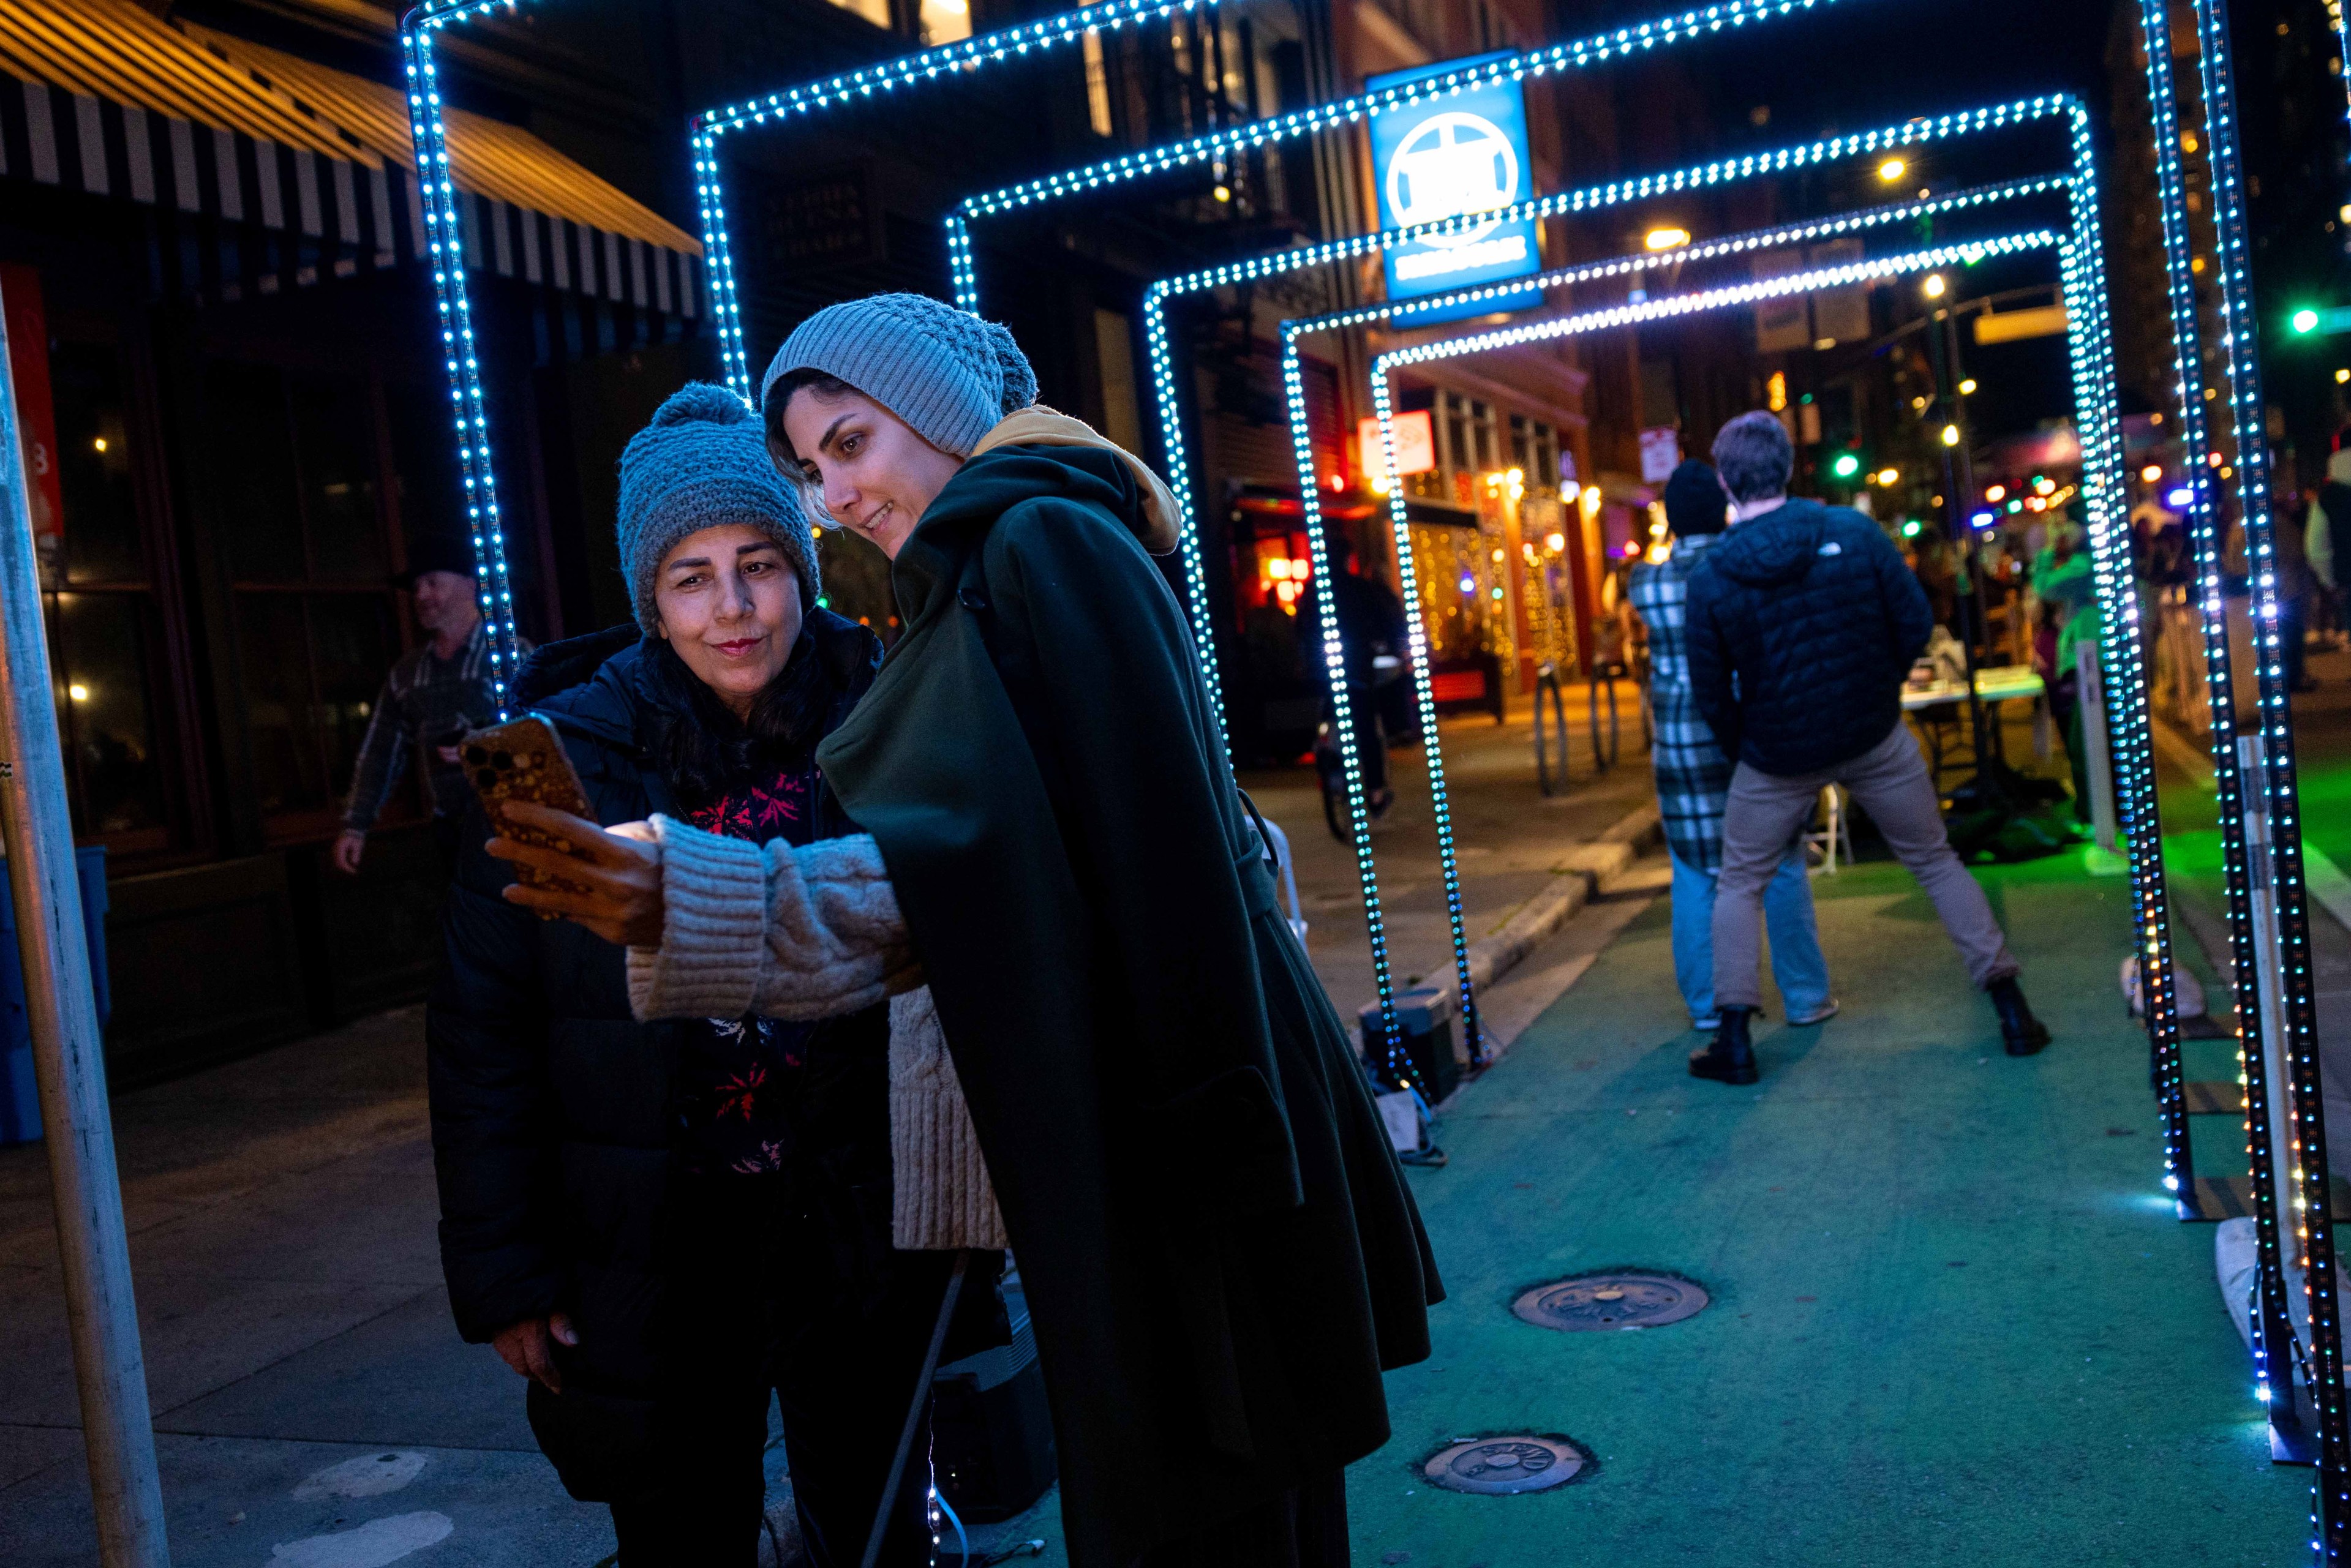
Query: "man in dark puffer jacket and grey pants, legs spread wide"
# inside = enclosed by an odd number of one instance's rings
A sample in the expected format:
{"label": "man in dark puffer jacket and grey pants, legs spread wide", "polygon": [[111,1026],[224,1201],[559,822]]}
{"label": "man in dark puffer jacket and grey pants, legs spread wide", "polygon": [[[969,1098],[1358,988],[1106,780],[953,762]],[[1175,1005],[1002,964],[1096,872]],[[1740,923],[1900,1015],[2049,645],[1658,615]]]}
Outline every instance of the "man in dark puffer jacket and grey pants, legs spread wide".
{"label": "man in dark puffer jacket and grey pants, legs spread wide", "polygon": [[1902,724],[1902,679],[1935,616],[1918,578],[1860,512],[1789,501],[1796,449],[1770,414],[1740,414],[1714,437],[1733,527],[1690,574],[1690,686],[1737,759],[1723,811],[1714,896],[1714,1006],[1721,1030],[1690,1074],[1754,1084],[1749,1018],[1763,1001],[1763,884],[1822,785],[1841,783],[1918,879],[1968,978],[1991,994],[2010,1056],[2050,1041],[2017,987],[1991,903],[1951,853],[1935,780]]}

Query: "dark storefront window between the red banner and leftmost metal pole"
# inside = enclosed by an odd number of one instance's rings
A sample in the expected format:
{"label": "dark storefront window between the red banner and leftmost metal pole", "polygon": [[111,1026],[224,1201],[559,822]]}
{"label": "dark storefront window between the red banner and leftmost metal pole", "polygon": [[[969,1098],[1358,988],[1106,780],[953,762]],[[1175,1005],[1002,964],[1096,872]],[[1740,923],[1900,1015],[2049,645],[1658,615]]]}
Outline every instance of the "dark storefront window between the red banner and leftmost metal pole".
{"label": "dark storefront window between the red banner and leftmost metal pole", "polygon": [[49,400],[63,581],[42,597],[73,832],[118,853],[165,849],[153,696],[160,623],[132,482],[122,357],[110,343],[54,343]]}

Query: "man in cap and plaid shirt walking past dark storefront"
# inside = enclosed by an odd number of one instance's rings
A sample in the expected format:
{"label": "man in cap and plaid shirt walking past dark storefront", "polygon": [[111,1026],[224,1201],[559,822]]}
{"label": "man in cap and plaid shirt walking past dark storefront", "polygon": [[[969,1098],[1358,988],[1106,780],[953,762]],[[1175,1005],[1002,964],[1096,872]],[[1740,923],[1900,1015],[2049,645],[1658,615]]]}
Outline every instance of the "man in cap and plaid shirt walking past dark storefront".
{"label": "man in cap and plaid shirt walking past dark storefront", "polygon": [[[409,569],[397,578],[414,595],[421,644],[400,656],[383,677],[376,705],[360,736],[360,759],[350,769],[343,832],[334,842],[334,867],[357,875],[367,832],[421,752],[433,790],[433,846],[442,865],[456,865],[458,825],[465,820],[465,769],[458,741],[496,717],[489,691],[489,625],[482,621],[473,548],[463,538],[421,538],[409,548]],[[529,651],[529,644],[522,644]]]}

